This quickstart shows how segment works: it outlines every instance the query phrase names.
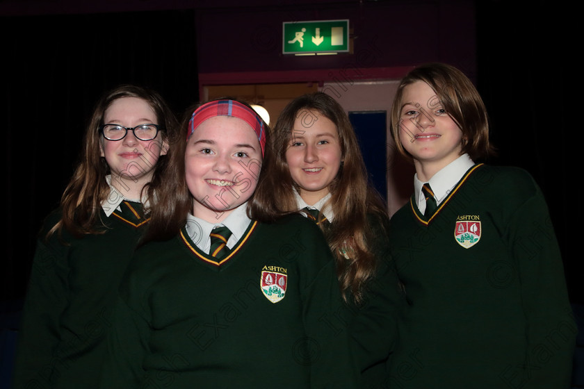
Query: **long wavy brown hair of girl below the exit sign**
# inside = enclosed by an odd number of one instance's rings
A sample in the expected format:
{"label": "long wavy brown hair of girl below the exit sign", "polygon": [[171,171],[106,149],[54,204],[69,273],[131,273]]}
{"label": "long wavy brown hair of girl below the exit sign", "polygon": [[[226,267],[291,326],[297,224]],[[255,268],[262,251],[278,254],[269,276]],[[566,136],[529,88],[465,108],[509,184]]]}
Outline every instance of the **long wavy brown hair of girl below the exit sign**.
{"label": "long wavy brown hair of girl below the exit sign", "polygon": [[339,133],[343,163],[329,185],[331,198],[327,203],[334,212],[334,222],[330,227],[321,228],[336,259],[344,297],[347,299],[347,292],[350,292],[359,302],[366,282],[375,272],[375,257],[369,248],[373,243],[373,231],[369,228],[368,217],[378,217],[383,221],[387,214],[380,196],[368,183],[357,136],[336,100],[323,92],[315,92],[294,99],[282,110],[273,129],[274,160],[266,163],[266,181],[269,182],[262,184],[271,187],[268,194],[279,212],[298,210],[286,150],[291,144],[295,120],[311,110],[330,119]]}

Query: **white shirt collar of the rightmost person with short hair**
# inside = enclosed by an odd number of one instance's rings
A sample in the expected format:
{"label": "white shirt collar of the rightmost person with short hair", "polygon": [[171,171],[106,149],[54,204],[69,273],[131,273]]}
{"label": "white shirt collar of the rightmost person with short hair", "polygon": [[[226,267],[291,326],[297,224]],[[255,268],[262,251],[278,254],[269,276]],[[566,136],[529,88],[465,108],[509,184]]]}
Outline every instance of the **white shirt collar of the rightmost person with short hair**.
{"label": "white shirt collar of the rightmost person with short hair", "polygon": [[[436,204],[439,205],[446,199],[458,181],[462,179],[464,173],[473,167],[474,164],[469,154],[462,154],[462,156],[456,158],[432,176],[428,183],[430,184],[430,188],[432,188],[432,192],[434,192]],[[425,211],[425,196],[422,194],[423,184],[424,182],[418,179],[418,174],[414,174],[414,195],[421,213]]]}

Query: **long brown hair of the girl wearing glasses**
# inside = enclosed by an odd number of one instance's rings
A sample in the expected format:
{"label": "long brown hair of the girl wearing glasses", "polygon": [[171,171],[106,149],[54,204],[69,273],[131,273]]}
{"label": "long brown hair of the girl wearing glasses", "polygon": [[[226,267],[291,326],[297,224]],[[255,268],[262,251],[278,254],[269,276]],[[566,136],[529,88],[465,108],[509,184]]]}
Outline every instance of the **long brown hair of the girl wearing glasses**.
{"label": "long brown hair of the girl wearing glasses", "polygon": [[[104,124],[104,114],[107,108],[111,106],[113,101],[122,97],[136,97],[145,100],[154,110],[158,124],[162,127],[162,139],[169,142],[175,136],[177,120],[158,92],[137,85],[120,85],[106,92],[93,110],[93,115],[83,136],[83,149],[79,164],[61,197],[60,208],[63,212],[61,220],[49,231],[47,236],[61,231],[63,228],[76,237],[103,232],[98,223],[99,210],[102,207],[102,201],[110,192],[106,181],[110,169],[105,158],[100,154],[101,135],[99,135],[98,129]],[[161,156],[156,163],[152,183],[160,181],[161,171],[165,167],[169,154],[172,154],[172,147],[168,154]],[[147,185],[143,190],[147,190],[147,198],[152,201],[154,197],[151,186]]]}

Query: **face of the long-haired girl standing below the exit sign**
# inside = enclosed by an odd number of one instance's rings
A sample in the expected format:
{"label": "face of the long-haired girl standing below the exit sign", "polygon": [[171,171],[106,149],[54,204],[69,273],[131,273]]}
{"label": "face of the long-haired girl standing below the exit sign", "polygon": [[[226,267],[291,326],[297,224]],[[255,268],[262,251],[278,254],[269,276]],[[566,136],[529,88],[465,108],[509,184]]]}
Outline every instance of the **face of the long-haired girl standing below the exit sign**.
{"label": "face of the long-haired girl standing below the exit sign", "polygon": [[305,115],[297,115],[286,163],[300,197],[313,205],[329,193],[329,185],[341,167],[342,152],[334,123],[318,111],[312,110],[310,115],[310,126],[302,120]]}

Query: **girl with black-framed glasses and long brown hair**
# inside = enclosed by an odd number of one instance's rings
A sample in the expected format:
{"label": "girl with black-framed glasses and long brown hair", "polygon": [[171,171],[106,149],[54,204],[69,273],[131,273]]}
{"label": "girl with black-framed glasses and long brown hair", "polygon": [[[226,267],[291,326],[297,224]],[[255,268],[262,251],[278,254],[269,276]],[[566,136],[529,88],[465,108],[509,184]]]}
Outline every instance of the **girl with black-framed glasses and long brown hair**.
{"label": "girl with black-framed glasses and long brown hair", "polygon": [[148,222],[177,120],[122,85],[95,107],[81,160],[44,222],[19,329],[14,388],[96,388],[116,286]]}

